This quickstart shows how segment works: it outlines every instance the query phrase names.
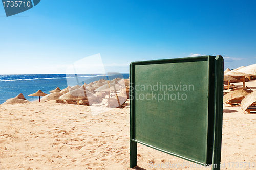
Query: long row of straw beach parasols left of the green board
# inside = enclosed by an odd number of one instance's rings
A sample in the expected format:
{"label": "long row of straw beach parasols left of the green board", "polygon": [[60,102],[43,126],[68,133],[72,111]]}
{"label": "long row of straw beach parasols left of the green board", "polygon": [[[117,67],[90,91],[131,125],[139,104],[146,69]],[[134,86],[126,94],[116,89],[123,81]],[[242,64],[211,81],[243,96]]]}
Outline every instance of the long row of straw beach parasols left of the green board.
{"label": "long row of straw beach parasols left of the green board", "polygon": [[[126,89],[129,86],[129,80],[115,78],[111,81],[106,81],[104,79],[100,79],[99,81],[94,81],[89,84],[84,83],[82,86],[75,85],[75,86],[68,86],[67,88],[61,90],[59,87],[50,91],[51,94],[46,94],[41,90],[38,90],[36,93],[30,94],[28,96],[42,96],[42,100],[49,101],[49,100],[66,100],[66,101],[80,101],[80,100],[88,100],[91,99],[92,101],[97,98],[95,92],[109,92]],[[126,92],[126,90],[125,90]],[[96,93],[97,94],[97,93]],[[118,97],[117,97],[118,99]],[[25,99],[23,94],[19,94],[15,98],[8,99],[4,104],[13,104],[13,103],[26,103],[29,102]]]}

